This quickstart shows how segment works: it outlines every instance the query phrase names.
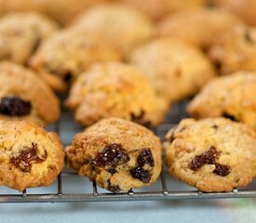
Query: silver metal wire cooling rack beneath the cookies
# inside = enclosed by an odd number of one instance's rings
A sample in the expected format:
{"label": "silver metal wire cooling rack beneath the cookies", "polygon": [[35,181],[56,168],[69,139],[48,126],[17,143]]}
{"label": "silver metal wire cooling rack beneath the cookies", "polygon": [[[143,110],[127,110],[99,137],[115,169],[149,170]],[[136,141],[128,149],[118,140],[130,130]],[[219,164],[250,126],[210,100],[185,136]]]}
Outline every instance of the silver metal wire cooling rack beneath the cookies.
{"label": "silver metal wire cooling rack beneath the cookies", "polygon": [[[168,113],[164,125],[155,129],[163,139],[168,129],[186,117],[186,101],[176,104]],[[58,132],[64,145],[69,145],[74,135],[82,131],[75,124],[72,115],[63,111],[61,121],[49,128]],[[248,188],[234,189],[231,192],[204,193],[179,182],[168,175],[163,168],[158,181],[151,187],[128,192],[111,193],[89,182],[87,177],[78,177],[74,172],[64,169],[56,182],[47,188],[28,189],[22,193],[0,187],[0,203],[69,203],[69,202],[121,202],[121,201],[154,201],[174,199],[217,199],[217,198],[251,198],[256,197],[256,181]]]}

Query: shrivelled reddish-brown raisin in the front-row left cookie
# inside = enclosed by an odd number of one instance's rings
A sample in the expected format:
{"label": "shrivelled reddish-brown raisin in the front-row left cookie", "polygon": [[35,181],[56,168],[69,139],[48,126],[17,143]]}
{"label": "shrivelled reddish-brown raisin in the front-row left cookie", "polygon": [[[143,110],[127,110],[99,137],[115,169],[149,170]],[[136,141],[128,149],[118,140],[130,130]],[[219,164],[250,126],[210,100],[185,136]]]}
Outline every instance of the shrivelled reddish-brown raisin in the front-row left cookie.
{"label": "shrivelled reddish-brown raisin in the front-row left cookie", "polygon": [[30,172],[32,164],[42,163],[47,159],[47,151],[42,157],[37,155],[37,144],[33,143],[32,148],[25,147],[23,151],[20,152],[18,157],[12,157],[10,159],[12,164],[19,167],[24,172]]}

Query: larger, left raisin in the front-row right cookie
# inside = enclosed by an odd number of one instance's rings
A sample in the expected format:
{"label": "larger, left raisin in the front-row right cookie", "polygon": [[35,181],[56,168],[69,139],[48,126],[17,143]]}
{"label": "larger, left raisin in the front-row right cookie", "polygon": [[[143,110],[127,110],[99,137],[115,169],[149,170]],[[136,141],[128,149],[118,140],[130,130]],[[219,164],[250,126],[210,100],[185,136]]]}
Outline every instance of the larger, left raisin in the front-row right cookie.
{"label": "larger, left raisin in the front-row right cookie", "polygon": [[205,151],[201,155],[195,156],[191,162],[190,168],[195,171],[202,167],[204,164],[215,164],[218,155],[219,152],[216,150],[216,148],[210,146],[209,151]]}

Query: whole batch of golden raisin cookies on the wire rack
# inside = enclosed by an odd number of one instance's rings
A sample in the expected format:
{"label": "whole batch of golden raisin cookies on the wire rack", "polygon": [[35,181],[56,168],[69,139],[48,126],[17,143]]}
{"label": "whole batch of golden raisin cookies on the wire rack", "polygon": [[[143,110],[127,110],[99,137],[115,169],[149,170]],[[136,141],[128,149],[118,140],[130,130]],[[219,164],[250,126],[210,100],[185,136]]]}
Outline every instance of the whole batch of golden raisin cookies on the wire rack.
{"label": "whole batch of golden raisin cookies on the wire rack", "polygon": [[[0,185],[47,186],[66,162],[101,188],[128,191],[154,183],[164,157],[171,176],[198,190],[247,186],[256,176],[255,7],[0,0]],[[153,130],[184,99],[191,118],[161,144]],[[86,127],[65,150],[45,130],[61,103]]]}

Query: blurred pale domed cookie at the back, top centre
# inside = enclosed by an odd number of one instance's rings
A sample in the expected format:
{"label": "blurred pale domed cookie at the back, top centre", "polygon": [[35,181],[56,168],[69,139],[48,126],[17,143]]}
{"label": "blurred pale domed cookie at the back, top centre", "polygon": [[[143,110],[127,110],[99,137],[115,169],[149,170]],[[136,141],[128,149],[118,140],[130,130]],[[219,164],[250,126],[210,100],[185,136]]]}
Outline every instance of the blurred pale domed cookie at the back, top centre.
{"label": "blurred pale domed cookie at the back, top centre", "polygon": [[123,55],[151,38],[155,29],[151,20],[139,11],[118,3],[90,7],[71,29],[101,36]]}

